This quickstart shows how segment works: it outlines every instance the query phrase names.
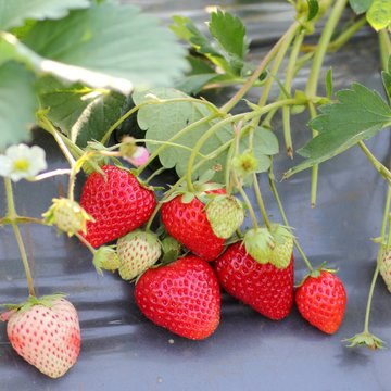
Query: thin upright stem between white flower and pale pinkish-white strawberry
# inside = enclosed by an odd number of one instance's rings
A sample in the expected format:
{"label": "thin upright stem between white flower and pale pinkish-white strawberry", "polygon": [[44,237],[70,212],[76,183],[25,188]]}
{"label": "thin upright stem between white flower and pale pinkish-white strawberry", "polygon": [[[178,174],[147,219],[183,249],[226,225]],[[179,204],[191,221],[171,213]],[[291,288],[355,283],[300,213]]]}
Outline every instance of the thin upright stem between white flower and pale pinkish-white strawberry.
{"label": "thin upright stem between white flower and pale pinkish-white strawberry", "polygon": [[17,241],[23,267],[25,269],[25,274],[26,274],[26,278],[27,278],[28,293],[29,293],[29,295],[35,297],[36,294],[35,294],[35,290],[34,290],[34,281],[33,281],[31,272],[30,272],[29,264],[28,264],[27,253],[26,253],[25,245],[23,243],[21,230],[16,223],[17,214],[16,214],[16,210],[15,210],[12,182],[11,182],[10,178],[4,178],[4,187],[5,187],[7,209],[8,209],[7,217],[11,222],[11,225],[12,225],[12,228],[13,228],[16,241]]}

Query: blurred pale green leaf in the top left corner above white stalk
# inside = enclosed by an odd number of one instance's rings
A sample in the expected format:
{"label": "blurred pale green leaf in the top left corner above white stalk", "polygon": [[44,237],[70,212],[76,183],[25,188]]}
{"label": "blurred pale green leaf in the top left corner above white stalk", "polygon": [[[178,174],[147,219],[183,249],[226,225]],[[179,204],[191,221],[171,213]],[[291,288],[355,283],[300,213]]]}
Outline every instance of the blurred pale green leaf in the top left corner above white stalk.
{"label": "blurred pale green leaf in the top left corner above white stalk", "polygon": [[88,7],[89,0],[0,0],[0,30],[22,26],[26,20],[58,20]]}

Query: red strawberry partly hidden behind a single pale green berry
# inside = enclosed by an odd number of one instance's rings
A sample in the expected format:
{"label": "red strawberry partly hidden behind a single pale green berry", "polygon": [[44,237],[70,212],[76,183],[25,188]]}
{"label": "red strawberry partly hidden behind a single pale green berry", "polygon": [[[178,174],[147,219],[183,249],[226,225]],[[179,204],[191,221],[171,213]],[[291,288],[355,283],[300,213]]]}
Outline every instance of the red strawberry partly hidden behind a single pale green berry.
{"label": "red strawberry partly hidden behind a single pale green berry", "polygon": [[[225,190],[210,193],[224,194]],[[182,202],[182,195],[164,203],[162,222],[172,237],[205,261],[215,260],[223,251],[225,239],[213,232],[205,205],[195,197],[189,203]]]}

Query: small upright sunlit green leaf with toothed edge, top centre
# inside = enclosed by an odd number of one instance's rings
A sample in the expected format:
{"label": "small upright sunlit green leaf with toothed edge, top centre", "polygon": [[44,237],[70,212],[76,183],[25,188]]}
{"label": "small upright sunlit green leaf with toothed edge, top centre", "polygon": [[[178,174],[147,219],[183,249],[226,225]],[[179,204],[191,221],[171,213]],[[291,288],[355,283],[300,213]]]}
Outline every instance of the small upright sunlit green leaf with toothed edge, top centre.
{"label": "small upright sunlit green leaf with toothed edge, top centre", "polygon": [[230,67],[234,71],[240,71],[243,66],[244,55],[249,50],[245,26],[241,20],[228,12],[217,10],[211,15],[209,29],[224,51]]}

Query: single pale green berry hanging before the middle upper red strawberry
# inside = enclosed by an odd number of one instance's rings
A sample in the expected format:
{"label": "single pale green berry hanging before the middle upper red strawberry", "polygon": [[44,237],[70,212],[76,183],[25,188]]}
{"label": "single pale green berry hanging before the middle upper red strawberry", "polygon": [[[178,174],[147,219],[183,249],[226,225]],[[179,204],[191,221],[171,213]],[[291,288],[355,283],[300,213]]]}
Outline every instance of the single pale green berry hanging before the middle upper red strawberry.
{"label": "single pale green berry hanging before the middle upper red strawberry", "polygon": [[207,220],[216,237],[230,238],[243,224],[244,209],[242,204],[231,195],[216,195],[205,206]]}

